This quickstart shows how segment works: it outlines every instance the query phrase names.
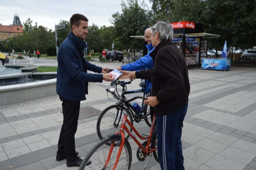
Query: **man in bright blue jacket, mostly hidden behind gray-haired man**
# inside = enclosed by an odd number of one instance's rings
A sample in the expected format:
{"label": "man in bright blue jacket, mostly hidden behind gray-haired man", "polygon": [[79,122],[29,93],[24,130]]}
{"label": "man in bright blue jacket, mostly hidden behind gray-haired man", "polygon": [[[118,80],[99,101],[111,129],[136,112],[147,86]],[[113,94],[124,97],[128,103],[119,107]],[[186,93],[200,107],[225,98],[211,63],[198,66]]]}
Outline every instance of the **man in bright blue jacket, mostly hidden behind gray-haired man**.
{"label": "man in bright blue jacket, mostly hidden behind gray-haired man", "polygon": [[[151,28],[147,28],[144,34],[145,42],[148,43],[148,45],[146,45],[149,51],[147,55],[143,56],[142,58],[138,59],[133,63],[129,63],[121,67],[117,67],[116,69],[123,70],[123,71],[138,71],[141,69],[152,69],[154,66],[154,60],[149,54],[155,49],[155,47],[152,47],[151,35],[152,35]],[[145,92],[150,93],[151,87],[152,87],[151,81],[145,80],[145,86],[146,86]],[[150,109],[150,115],[151,115],[151,121],[153,121],[154,114],[151,111],[152,109]]]}

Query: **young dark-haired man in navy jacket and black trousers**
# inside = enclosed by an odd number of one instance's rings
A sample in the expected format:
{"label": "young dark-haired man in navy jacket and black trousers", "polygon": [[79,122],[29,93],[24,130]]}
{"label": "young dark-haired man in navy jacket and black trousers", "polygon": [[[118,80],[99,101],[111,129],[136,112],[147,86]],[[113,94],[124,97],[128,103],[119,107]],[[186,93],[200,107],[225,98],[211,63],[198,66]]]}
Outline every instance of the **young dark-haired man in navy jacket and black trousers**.
{"label": "young dark-haired man in navy jacket and black trousers", "polygon": [[[86,99],[88,94],[88,82],[113,81],[108,74],[91,74],[87,70],[96,73],[107,73],[107,67],[98,67],[86,61],[82,51],[86,48],[84,40],[88,34],[88,19],[81,14],[74,14],[70,18],[71,32],[61,44],[58,51],[58,71],[56,92],[62,101],[63,125],[58,141],[56,160],[67,158],[67,166],[80,166],[75,149],[75,134],[78,125],[80,101]],[[88,162],[90,164],[91,162]]]}

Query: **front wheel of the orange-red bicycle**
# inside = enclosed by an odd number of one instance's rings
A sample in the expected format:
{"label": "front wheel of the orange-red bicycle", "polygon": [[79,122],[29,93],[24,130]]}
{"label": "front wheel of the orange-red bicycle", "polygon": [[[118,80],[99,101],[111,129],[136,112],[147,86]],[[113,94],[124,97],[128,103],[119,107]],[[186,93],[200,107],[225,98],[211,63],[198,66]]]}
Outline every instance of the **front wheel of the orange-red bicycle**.
{"label": "front wheel of the orange-red bicycle", "polygon": [[[112,170],[116,162],[121,140],[122,139],[120,135],[108,136],[101,140],[86,155],[79,170]],[[111,152],[108,164],[106,165],[111,147],[108,145],[109,143],[114,143],[115,146]],[[85,166],[88,160],[91,160],[92,164]],[[128,140],[125,140],[122,152],[120,154],[120,158],[118,160],[118,164],[116,166],[116,170],[129,170],[131,167],[131,163],[132,149]]]}

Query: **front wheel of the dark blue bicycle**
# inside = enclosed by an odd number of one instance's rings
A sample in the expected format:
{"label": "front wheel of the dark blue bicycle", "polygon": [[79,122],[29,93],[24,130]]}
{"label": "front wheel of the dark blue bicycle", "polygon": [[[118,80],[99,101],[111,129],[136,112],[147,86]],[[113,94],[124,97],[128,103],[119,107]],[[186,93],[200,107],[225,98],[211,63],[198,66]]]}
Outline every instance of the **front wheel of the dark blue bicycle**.
{"label": "front wheel of the dark blue bicycle", "polygon": [[[117,115],[117,111],[118,115]],[[102,140],[104,137],[110,135],[110,134],[115,134],[117,131],[120,130],[120,126],[122,124],[123,118],[124,118],[124,113],[126,112],[126,107],[124,106],[123,113],[121,114],[121,109],[119,108],[119,105],[111,105],[104,109],[102,113],[100,113],[100,116],[97,121],[97,134]],[[120,119],[121,115],[121,119]],[[117,116],[117,119],[116,119]],[[118,121],[120,119],[120,122],[118,124]],[[133,125],[133,120],[132,120],[132,114],[130,111],[128,112],[128,117],[127,119],[132,123]],[[116,122],[115,122],[116,120]],[[128,124],[126,124],[127,128],[132,132],[132,128]],[[129,134],[127,132],[124,132],[125,138],[127,139],[129,137]]]}

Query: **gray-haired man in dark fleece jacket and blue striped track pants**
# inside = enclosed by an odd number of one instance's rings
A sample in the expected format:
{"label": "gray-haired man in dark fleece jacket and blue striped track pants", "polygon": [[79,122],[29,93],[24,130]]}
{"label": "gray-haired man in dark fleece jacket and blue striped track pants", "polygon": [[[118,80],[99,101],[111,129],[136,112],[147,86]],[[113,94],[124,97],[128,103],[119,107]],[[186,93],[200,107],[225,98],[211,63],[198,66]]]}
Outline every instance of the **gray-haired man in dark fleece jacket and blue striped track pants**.
{"label": "gray-haired man in dark fleece jacket and blue striped track pants", "polygon": [[156,56],[152,69],[121,71],[120,79],[152,80],[152,97],[144,103],[153,107],[157,122],[158,158],[162,170],[184,170],[182,122],[188,109],[190,83],[182,52],[172,42],[172,25],[158,22],[152,28],[150,56]]}

